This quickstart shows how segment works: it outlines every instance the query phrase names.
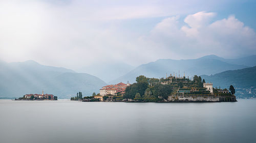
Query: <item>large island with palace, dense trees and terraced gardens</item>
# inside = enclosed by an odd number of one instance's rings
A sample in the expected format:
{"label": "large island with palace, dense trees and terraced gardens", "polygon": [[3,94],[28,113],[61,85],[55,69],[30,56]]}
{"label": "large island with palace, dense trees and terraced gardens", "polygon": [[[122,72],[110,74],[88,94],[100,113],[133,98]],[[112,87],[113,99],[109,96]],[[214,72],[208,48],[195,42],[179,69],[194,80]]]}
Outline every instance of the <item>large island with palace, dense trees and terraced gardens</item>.
{"label": "large island with palace, dense trees and terraced gardens", "polygon": [[175,73],[166,78],[136,77],[130,84],[118,83],[102,87],[99,94],[83,97],[83,102],[236,102],[232,85],[228,89],[214,88],[211,82],[195,75],[180,77]]}

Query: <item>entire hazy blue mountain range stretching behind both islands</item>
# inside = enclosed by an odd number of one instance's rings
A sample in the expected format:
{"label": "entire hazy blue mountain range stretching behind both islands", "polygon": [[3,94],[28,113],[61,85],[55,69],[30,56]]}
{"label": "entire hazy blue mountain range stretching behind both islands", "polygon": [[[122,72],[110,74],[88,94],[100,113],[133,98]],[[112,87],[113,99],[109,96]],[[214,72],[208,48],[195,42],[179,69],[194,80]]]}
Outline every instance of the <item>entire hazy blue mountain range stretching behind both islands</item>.
{"label": "entire hazy blue mountain range stretching behind both islands", "polygon": [[[82,67],[77,73],[74,70],[40,65],[35,61],[6,63],[0,61],[0,98],[20,97],[25,94],[40,94],[42,90],[60,98],[69,98],[77,92],[83,96],[98,93],[106,83],[129,81],[135,82],[139,75],[147,77],[165,77],[166,73],[191,78],[202,75],[214,86],[228,88],[233,84],[238,93],[253,93],[255,87],[256,55],[238,59],[224,59],[216,55],[207,55],[198,59],[172,60],[160,59],[155,62],[140,65],[136,68],[122,62],[102,62]],[[88,74],[91,73],[91,74]],[[123,75],[122,75],[123,74]],[[96,75],[96,76],[95,76]],[[121,76],[122,75],[122,76]],[[252,87],[252,88],[251,88]]]}

